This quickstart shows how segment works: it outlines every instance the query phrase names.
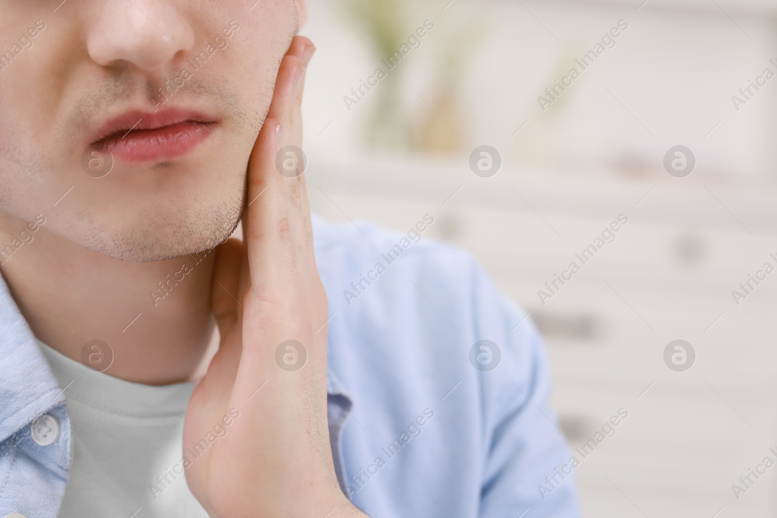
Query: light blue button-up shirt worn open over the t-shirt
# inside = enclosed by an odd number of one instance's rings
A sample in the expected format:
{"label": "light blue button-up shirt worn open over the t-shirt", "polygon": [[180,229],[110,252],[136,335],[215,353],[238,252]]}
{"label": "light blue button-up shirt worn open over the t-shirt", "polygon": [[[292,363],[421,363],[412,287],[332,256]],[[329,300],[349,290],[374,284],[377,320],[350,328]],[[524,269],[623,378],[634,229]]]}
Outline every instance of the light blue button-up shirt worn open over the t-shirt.
{"label": "light blue button-up shirt worn open over the t-shirt", "polygon": [[[428,214],[405,235],[313,221],[330,441],[351,501],[387,518],[579,516],[524,312],[466,252],[426,237]],[[71,451],[62,389],[0,280],[0,517],[57,516]],[[30,427],[46,414],[60,430],[41,446]]]}

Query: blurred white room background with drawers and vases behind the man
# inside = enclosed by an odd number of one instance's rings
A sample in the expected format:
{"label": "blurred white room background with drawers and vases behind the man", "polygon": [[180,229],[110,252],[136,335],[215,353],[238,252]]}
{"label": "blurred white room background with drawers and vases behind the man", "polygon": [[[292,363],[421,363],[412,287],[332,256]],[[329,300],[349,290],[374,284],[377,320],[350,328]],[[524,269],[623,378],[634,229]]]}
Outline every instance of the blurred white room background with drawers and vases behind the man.
{"label": "blurred white room background with drawers and vases behind the man", "polygon": [[[537,322],[570,447],[628,410],[577,469],[583,515],[777,516],[777,468],[732,489],[777,458],[777,273],[732,295],[777,266],[777,78],[763,78],[777,73],[777,2],[308,3],[313,210],[399,231],[433,214],[434,238],[472,252]],[[580,77],[550,98],[570,68]],[[495,176],[470,169],[482,145],[501,157]],[[690,176],[664,169],[676,145],[695,155]],[[619,214],[615,242],[542,304]],[[689,370],[664,362],[675,339],[695,349]]]}

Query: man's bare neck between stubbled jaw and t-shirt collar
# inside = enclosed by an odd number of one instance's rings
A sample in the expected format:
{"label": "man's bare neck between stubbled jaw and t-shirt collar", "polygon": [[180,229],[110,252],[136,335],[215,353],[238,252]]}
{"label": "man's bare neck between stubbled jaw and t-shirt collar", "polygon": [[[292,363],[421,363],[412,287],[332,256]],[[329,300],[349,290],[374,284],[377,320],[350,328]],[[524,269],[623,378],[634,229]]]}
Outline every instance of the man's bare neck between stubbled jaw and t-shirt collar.
{"label": "man's bare neck between stubbled jaw and t-shirt collar", "polygon": [[210,308],[214,252],[122,262],[45,224],[29,232],[28,223],[0,214],[0,250],[13,249],[0,255],[0,271],[40,341],[80,362],[87,342],[103,340],[113,351],[105,373],[126,381],[162,385],[204,374],[218,344]]}

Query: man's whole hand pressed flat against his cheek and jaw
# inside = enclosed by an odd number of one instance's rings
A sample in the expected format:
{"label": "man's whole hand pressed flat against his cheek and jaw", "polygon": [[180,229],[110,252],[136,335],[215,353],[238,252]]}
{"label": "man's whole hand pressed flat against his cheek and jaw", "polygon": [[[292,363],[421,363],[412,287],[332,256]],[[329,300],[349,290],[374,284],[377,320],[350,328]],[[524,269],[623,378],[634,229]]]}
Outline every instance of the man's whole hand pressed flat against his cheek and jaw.
{"label": "man's whole hand pressed flat against his cheek and jaw", "polygon": [[[249,160],[244,245],[231,241],[218,251],[213,307],[221,347],[192,396],[184,437],[185,446],[196,442],[228,408],[241,414],[207,461],[186,472],[212,516],[363,516],[340,492],[329,448],[326,293],[304,176],[284,176],[275,166],[281,148],[301,146],[301,91],[312,50],[295,38],[280,64]],[[301,368],[277,363],[289,340],[304,353]]]}

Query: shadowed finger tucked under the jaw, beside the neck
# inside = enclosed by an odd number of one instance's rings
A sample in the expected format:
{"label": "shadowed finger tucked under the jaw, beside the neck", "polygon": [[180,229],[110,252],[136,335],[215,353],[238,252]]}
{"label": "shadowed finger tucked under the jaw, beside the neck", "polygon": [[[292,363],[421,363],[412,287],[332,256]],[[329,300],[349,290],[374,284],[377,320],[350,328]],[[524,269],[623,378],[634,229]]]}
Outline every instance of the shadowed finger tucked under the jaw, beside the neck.
{"label": "shadowed finger tucked under the jaw, beside the neck", "polygon": [[218,331],[224,336],[232,329],[238,315],[238,283],[243,256],[239,239],[228,239],[216,247],[211,286],[211,309]]}

